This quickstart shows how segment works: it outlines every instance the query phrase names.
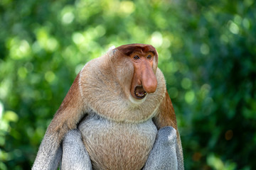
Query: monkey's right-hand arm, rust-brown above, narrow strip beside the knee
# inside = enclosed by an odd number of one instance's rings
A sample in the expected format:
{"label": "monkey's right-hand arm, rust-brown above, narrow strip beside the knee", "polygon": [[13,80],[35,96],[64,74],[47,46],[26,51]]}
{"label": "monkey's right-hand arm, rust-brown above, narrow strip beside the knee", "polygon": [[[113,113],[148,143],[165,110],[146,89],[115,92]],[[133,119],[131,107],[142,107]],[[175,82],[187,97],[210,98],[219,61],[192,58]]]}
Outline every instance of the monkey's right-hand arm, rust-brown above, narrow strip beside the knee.
{"label": "monkey's right-hand arm, rust-brown above, narrow strip beside the knee", "polygon": [[[161,101],[161,104],[159,106],[159,111],[153,120],[154,120],[154,123],[156,124],[156,127],[158,130],[160,130],[161,128],[164,128],[166,126],[171,126],[176,130],[176,160],[178,162],[178,170],[184,169],[181,137],[178,133],[176,115],[174,113],[174,106],[171,103],[171,98],[169,97],[167,90],[166,90],[165,97],[164,97],[163,101]],[[159,133],[158,135],[161,135],[161,133]],[[159,137],[159,138],[161,138],[161,137]],[[163,140],[164,139],[167,139],[167,138],[163,137]],[[166,142],[169,142],[169,141],[166,141]],[[157,145],[157,143],[155,145]],[[172,160],[171,160],[171,162],[172,162]]]}

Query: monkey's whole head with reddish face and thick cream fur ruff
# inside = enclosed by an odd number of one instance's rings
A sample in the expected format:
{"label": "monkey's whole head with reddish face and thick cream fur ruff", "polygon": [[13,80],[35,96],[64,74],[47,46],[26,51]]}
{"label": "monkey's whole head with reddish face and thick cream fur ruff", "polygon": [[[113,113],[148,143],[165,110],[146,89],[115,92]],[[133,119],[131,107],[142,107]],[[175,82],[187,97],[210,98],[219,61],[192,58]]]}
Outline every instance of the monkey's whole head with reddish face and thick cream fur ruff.
{"label": "monkey's whole head with reddish face and thick cream fur ruff", "polygon": [[105,118],[142,122],[154,115],[166,93],[157,64],[158,54],[151,45],[116,47],[82,69],[81,94],[88,106]]}

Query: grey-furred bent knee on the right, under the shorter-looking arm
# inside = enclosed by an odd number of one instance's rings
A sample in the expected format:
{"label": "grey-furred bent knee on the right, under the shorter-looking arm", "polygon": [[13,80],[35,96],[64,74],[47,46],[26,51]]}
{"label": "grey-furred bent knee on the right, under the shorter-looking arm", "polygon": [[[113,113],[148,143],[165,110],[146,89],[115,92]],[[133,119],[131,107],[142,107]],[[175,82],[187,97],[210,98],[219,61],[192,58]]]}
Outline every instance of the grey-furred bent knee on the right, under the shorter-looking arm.
{"label": "grey-furred bent knee on the right, under the shorter-looking arm", "polygon": [[183,166],[178,165],[181,158],[178,156],[177,147],[176,130],[171,126],[161,128],[143,169],[183,169]]}

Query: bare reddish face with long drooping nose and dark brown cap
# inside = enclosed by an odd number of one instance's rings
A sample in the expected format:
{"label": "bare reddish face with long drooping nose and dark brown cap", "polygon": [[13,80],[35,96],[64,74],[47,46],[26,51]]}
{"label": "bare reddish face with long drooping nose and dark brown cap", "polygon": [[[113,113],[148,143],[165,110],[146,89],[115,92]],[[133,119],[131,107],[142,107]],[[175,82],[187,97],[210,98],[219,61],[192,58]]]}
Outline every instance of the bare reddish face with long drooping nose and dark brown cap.
{"label": "bare reddish face with long drooping nose and dark brown cap", "polygon": [[[130,86],[131,95],[142,99],[146,94],[154,93],[157,87],[156,69],[158,54],[152,45],[131,44],[116,48],[124,57],[129,57],[134,67]],[[151,56],[151,57],[150,57]]]}

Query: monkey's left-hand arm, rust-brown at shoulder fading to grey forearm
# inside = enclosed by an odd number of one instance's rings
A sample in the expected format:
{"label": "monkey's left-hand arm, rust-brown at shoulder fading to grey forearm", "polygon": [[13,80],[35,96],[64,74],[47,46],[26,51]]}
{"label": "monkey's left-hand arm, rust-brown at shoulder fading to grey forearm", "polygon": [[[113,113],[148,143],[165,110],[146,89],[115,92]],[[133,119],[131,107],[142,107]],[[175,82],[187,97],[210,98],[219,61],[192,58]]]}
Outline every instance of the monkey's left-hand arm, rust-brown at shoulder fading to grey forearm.
{"label": "monkey's left-hand arm, rust-brown at shoulder fading to grey forearm", "polygon": [[80,74],[75,78],[63,103],[55,113],[38,150],[32,169],[57,169],[62,149],[60,143],[66,132],[75,129],[85,113],[85,105],[79,88]]}

